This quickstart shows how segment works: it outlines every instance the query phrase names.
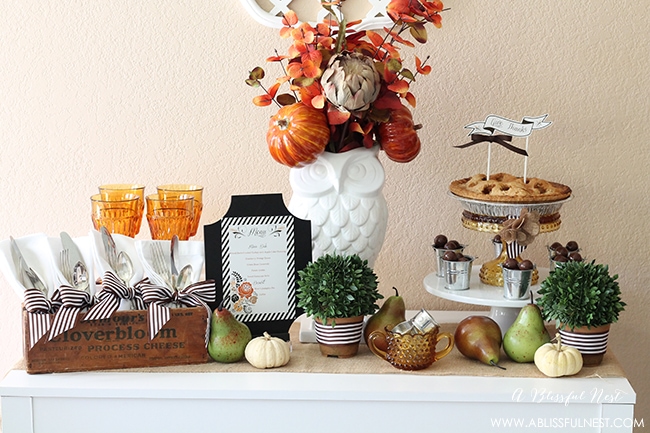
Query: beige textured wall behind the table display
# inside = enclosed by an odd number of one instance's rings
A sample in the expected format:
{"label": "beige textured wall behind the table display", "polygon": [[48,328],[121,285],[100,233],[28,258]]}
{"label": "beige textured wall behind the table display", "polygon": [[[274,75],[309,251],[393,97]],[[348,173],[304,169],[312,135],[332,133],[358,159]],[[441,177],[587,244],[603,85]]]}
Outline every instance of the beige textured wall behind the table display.
{"label": "beige textured wall behind the table display", "polygon": [[[422,153],[409,164],[381,156],[390,210],[375,266],[381,291],[399,288],[410,309],[472,308],[422,286],[439,233],[468,243],[480,262],[492,255],[490,236],[463,229],[446,195],[451,180],[485,171],[487,150],[452,146],[488,114],[548,113],[553,124],[530,139],[528,175],[570,185],[574,200],[560,230],[527,255],[544,266],[544,245],[573,239],[619,275],[628,307],[611,350],[638,393],[636,417],[648,419],[650,3],[445,6],[443,28],[405,51],[409,61],[432,56],[434,72],[413,86]],[[236,1],[1,2],[0,238],[85,235],[89,196],[108,182],[144,183],[147,192],[200,183],[203,223],[218,220],[232,194],[281,192],[288,202],[288,169],[264,140],[275,110],[253,106],[258,93],[244,83],[257,65],[279,75],[264,64],[274,48],[287,41]],[[492,171],[521,175],[523,162],[495,147]],[[20,314],[0,277],[0,377],[21,357]]]}

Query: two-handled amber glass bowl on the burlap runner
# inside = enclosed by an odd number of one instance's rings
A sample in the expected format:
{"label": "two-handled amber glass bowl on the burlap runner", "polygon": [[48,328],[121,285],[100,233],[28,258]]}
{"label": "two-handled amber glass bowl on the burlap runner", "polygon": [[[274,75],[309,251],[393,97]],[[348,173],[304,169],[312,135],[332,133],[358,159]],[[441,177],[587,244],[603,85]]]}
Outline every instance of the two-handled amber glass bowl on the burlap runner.
{"label": "two-handled amber glass bowl on the burlap runner", "polygon": [[[400,370],[422,370],[430,367],[454,348],[454,336],[449,332],[439,333],[437,326],[424,334],[398,334],[392,329],[392,326],[387,326],[384,331],[373,331],[368,337],[368,348]],[[375,340],[384,338],[386,351],[379,349],[375,344]],[[447,339],[447,345],[437,351],[436,346],[443,338]]]}

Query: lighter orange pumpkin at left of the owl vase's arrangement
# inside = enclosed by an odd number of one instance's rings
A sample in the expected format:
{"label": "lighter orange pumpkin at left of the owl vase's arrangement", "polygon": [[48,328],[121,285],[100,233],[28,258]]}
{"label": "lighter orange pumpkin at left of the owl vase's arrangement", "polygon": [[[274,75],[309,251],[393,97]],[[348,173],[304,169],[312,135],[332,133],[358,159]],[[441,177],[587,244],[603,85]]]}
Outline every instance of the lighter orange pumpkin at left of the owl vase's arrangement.
{"label": "lighter orange pumpkin at left of the owl vase's arrangement", "polygon": [[273,159],[289,167],[313,162],[325,150],[329,138],[325,113],[301,102],[280,108],[271,117],[266,133]]}

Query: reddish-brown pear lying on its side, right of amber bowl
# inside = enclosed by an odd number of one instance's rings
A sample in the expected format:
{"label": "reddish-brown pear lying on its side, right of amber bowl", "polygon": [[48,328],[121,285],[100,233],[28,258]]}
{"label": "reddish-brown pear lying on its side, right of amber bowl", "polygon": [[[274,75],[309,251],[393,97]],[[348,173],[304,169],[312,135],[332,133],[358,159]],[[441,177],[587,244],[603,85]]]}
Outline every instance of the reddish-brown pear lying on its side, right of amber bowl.
{"label": "reddish-brown pear lying on its side, right of amber bowl", "polygon": [[454,344],[458,351],[470,359],[484,364],[498,365],[501,353],[501,328],[487,316],[469,316],[456,327]]}

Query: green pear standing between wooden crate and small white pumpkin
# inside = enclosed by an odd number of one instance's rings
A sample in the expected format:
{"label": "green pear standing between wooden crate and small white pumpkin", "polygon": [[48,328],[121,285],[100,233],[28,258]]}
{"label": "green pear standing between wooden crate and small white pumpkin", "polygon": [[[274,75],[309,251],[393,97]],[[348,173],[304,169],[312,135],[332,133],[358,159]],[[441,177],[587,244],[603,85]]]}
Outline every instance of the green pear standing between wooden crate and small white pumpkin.
{"label": "green pear standing between wooden crate and small white pumpkin", "polygon": [[244,357],[244,350],[252,335],[248,326],[219,305],[210,319],[208,353],[217,362],[237,362]]}

